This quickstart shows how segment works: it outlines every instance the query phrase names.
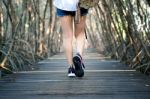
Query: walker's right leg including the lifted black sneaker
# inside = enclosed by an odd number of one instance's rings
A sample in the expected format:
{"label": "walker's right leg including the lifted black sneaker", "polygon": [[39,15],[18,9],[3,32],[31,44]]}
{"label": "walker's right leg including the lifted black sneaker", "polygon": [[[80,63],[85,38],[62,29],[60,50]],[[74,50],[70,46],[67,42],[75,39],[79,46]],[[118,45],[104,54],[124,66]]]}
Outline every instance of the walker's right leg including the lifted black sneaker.
{"label": "walker's right leg including the lifted black sneaker", "polygon": [[75,37],[76,37],[76,44],[77,44],[77,54],[73,57],[73,63],[75,66],[75,75],[77,77],[84,76],[84,63],[82,61],[84,43],[85,43],[85,19],[86,16],[81,16],[80,23],[75,24]]}

